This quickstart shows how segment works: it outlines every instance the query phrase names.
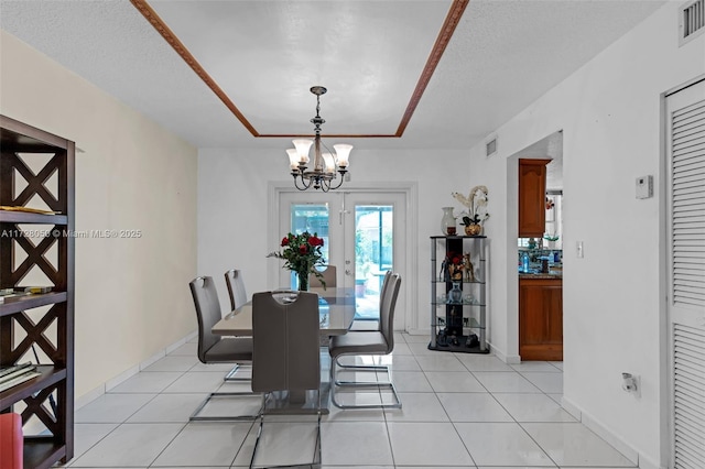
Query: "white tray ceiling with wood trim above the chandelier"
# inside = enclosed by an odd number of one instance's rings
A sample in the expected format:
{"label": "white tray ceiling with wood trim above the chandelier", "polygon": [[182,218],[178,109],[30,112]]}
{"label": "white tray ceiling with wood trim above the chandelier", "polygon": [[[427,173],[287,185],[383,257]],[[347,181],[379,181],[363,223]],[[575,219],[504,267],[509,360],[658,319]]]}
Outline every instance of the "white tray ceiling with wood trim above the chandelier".
{"label": "white tray ceiling with wood trim above the chandelier", "polygon": [[[281,148],[253,137],[150,24],[159,15],[259,134],[393,135],[452,0],[0,1],[0,28],[198,148]],[[464,2],[462,2],[464,3]],[[473,0],[401,138],[358,148],[467,149],[663,0]],[[1,97],[0,97],[1,98]],[[412,106],[413,108],[413,106]]]}

